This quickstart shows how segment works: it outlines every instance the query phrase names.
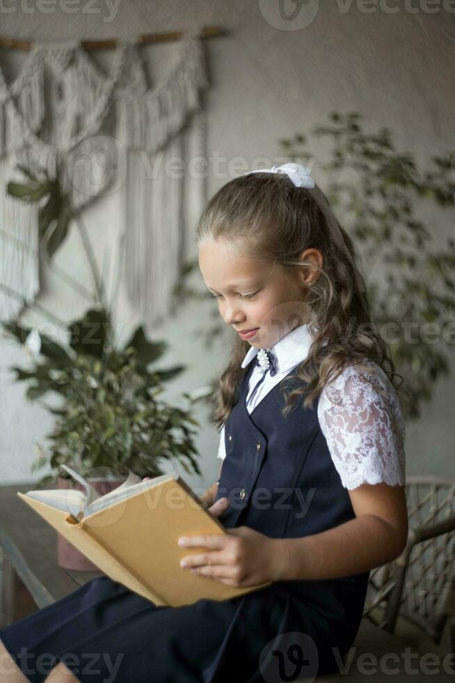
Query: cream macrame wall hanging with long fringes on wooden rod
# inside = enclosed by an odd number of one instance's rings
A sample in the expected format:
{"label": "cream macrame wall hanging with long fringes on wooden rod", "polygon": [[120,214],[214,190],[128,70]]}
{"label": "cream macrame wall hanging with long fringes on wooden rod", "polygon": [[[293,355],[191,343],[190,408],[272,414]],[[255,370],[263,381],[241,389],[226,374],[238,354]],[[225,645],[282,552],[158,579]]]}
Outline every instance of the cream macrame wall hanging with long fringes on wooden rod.
{"label": "cream macrame wall hanging with long fringes on wooden rod", "polygon": [[[58,173],[79,209],[118,181],[128,298],[145,323],[165,319],[186,226],[207,199],[205,173],[188,170],[195,157],[207,170],[207,87],[195,29],[177,43],[173,66],[152,89],[133,42],[117,43],[109,75],[74,41],[33,43],[11,84],[0,67],[0,321],[14,319],[20,297],[31,305],[40,289],[37,206],[6,192],[8,181],[26,181],[17,164],[35,176]],[[109,164],[96,161],[100,144]],[[171,158],[183,172],[169,171]]]}

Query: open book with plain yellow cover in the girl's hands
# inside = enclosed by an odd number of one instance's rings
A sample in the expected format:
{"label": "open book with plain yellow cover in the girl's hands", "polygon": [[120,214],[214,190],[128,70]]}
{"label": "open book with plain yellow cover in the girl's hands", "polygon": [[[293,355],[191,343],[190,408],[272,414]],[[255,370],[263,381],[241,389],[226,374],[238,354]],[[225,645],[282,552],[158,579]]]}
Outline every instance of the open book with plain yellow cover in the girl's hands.
{"label": "open book with plain yellow cover in the girl's hands", "polygon": [[143,482],[134,473],[100,496],[86,479],[61,465],[83,486],[17,492],[47,523],[113,581],[155,605],[182,606],[199,599],[225,600],[264,588],[233,586],[180,567],[202,546],[180,547],[181,536],[225,534],[196,493],[176,473]]}

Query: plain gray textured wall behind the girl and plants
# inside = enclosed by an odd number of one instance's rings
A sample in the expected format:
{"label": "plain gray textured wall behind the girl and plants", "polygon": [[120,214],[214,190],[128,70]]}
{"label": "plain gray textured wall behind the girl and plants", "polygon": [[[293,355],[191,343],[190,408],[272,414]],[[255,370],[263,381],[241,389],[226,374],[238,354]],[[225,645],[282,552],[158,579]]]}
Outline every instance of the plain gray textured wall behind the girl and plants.
{"label": "plain gray textured wall behind the girl and plants", "polygon": [[[295,7],[287,0],[289,13]],[[206,41],[211,77],[208,191],[212,194],[230,173],[241,172],[233,165],[236,158],[248,167],[257,167],[260,158],[280,162],[278,139],[310,130],[333,109],[360,112],[372,129],[390,126],[399,148],[412,151],[419,163],[453,149],[454,13],[455,2],[450,0],[310,0],[296,19],[283,22],[266,0],[97,0],[90,5],[86,0],[72,5],[64,0],[0,0],[0,35],[32,40],[132,38],[185,29],[191,22],[223,26],[227,36]],[[153,81],[166,73],[171,49],[169,45],[144,49]],[[0,50],[0,59],[10,80],[19,72],[24,54]],[[112,52],[97,52],[96,59],[109,69]],[[319,152],[324,152],[322,145]],[[100,261],[106,250],[113,257],[121,229],[118,216],[115,196],[99,199],[86,212]],[[432,213],[429,220],[436,240],[453,231],[453,217],[451,222],[447,213]],[[187,256],[191,255],[189,243]],[[71,268],[81,279],[87,277],[74,231],[57,258],[61,267]],[[63,320],[81,314],[85,307],[51,274],[40,302]],[[198,319],[198,307],[185,307],[177,318],[150,330],[154,339],[166,339],[170,345],[163,367],[177,362],[188,365],[185,374],[169,385],[169,399],[205,385],[223,366],[221,344],[207,353],[194,338]],[[31,311],[25,320],[38,323],[42,316]],[[122,296],[120,323],[125,335],[137,322]],[[31,478],[33,442],[42,441],[52,422],[45,410],[25,401],[24,387],[11,381],[8,367],[22,363],[24,353],[0,339],[0,358],[0,482],[19,482]],[[408,474],[453,473],[452,387],[453,377],[441,381],[422,420],[408,424]],[[193,486],[208,486],[218,469],[218,437],[204,410],[198,417],[203,425],[197,443],[203,475],[187,478]]]}

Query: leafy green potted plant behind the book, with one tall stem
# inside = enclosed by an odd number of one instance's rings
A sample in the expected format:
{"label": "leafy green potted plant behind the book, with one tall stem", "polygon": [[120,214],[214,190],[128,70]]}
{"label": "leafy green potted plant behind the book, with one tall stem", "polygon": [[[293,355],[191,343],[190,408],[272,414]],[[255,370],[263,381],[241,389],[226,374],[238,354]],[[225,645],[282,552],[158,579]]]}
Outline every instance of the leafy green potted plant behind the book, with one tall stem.
{"label": "leafy green potted plant behind the book, with one tall stem", "polygon": [[[142,326],[125,344],[115,340],[111,310],[80,213],[61,191],[58,177],[39,180],[20,168],[30,183],[8,183],[8,192],[22,201],[45,199],[38,216],[40,246],[47,258],[56,252],[70,221],[75,220],[94,284],[94,305],[67,325],[65,344],[19,321],[3,324],[33,357],[31,367],[12,368],[18,381],[29,382],[26,396],[42,401],[45,394],[54,392],[60,397],[58,407],[45,404],[56,421],[48,436],[49,447],[37,444],[38,456],[31,465],[31,471],[50,465],[52,472],[35,486],[55,486],[57,477],[58,487],[81,488],[59,471],[64,463],[99,493],[119,486],[129,472],[138,477],[163,474],[160,464],[170,459],[181,463],[186,472],[200,474],[193,441],[193,426],[199,423],[191,409],[201,396],[182,394],[186,408],[170,406],[159,397],[163,382],[184,367],[153,369],[167,344],[150,342]],[[60,535],[58,561],[70,569],[97,569]]]}

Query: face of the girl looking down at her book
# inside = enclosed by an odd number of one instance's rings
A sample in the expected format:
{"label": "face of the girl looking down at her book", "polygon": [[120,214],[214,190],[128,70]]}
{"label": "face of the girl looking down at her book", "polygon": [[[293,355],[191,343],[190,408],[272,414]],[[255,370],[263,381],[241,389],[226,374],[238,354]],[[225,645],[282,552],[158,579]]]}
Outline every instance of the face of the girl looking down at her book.
{"label": "face of the girl looking down at her book", "polygon": [[[207,289],[218,300],[227,325],[236,332],[257,328],[248,344],[269,348],[305,322],[305,289],[296,273],[239,256],[223,240],[199,247],[199,268]],[[244,339],[244,337],[242,337]]]}

